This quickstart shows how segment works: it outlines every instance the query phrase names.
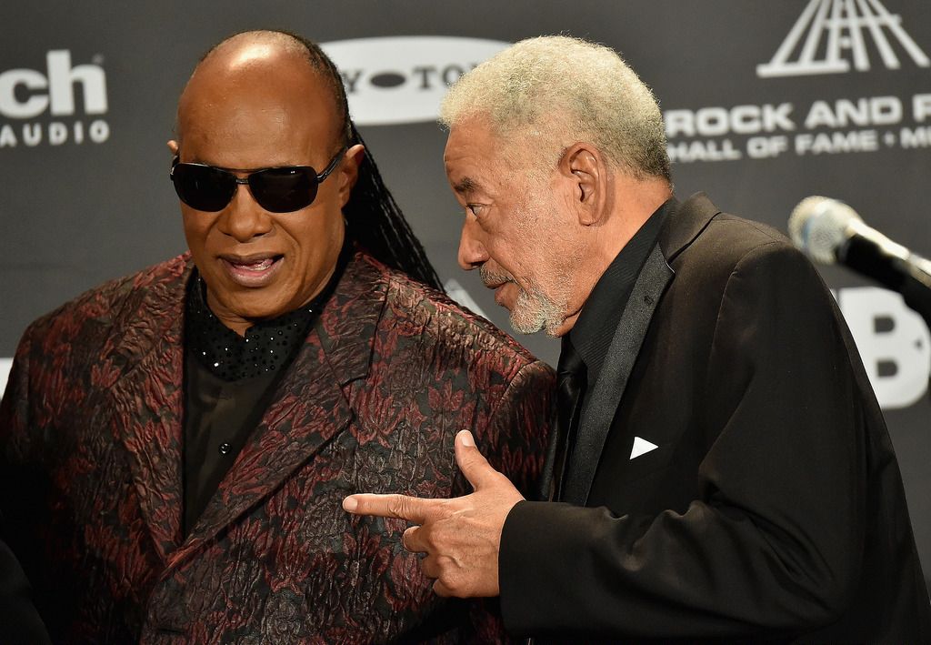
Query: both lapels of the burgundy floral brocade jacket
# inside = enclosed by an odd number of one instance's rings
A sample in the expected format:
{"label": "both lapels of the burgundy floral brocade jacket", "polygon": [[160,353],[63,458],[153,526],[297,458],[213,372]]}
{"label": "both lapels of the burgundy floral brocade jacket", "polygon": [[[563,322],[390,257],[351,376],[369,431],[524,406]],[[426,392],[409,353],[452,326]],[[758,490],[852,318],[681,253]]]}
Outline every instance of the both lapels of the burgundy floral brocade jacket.
{"label": "both lapels of the burgundy floral brocade jacket", "polygon": [[177,566],[195,553],[345,429],[352,413],[342,386],[369,370],[387,288],[377,275],[359,276],[359,268],[353,268],[322,312],[263,419],[183,542],[182,316],[190,266],[185,265],[181,281],[148,285],[148,297],[133,319],[152,324],[130,327],[124,344],[116,348],[117,354],[128,356],[125,363],[136,366],[101,385],[111,390],[119,411],[115,424],[124,430],[116,434],[128,448],[142,516],[166,566]]}

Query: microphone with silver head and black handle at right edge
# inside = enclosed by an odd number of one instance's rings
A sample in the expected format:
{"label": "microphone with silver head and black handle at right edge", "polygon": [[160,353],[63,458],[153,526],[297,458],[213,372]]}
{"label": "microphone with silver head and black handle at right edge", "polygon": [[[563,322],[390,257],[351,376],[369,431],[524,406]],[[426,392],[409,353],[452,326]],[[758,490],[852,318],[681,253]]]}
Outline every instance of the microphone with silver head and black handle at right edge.
{"label": "microphone with silver head and black handle at right edge", "polygon": [[931,321],[931,262],[867,226],[843,201],[803,199],[789,216],[789,236],[815,262],[840,263],[878,281]]}

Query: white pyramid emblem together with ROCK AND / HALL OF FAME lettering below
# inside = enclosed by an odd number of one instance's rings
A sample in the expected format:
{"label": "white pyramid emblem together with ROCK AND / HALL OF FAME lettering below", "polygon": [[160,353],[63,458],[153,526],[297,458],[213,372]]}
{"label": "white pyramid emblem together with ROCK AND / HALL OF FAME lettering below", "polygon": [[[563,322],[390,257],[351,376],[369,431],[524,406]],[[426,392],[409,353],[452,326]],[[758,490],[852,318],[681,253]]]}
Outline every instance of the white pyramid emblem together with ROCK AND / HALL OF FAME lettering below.
{"label": "white pyramid emblem together with ROCK AND / HALL OF FAME lettering below", "polygon": [[[877,67],[870,51],[878,52],[886,73],[902,69],[903,62],[931,69],[901,16],[879,0],[809,0],[756,75],[764,82],[797,77],[799,88],[808,89],[813,86],[803,84],[803,76]],[[931,84],[911,95],[672,109],[664,117],[669,158],[677,163],[931,149]]]}

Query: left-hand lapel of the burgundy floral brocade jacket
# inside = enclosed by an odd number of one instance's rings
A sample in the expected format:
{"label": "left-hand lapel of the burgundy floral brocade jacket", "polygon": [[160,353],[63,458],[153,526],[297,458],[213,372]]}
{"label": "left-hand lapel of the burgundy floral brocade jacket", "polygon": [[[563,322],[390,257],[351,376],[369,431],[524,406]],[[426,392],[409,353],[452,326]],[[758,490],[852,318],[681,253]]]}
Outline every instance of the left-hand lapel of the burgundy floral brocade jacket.
{"label": "left-hand lapel of the burgundy floral brocade jacket", "polygon": [[111,430],[125,446],[142,519],[164,561],[178,545],[182,512],[182,406],[186,256],[125,285],[115,344],[101,363],[120,365],[109,395]]}

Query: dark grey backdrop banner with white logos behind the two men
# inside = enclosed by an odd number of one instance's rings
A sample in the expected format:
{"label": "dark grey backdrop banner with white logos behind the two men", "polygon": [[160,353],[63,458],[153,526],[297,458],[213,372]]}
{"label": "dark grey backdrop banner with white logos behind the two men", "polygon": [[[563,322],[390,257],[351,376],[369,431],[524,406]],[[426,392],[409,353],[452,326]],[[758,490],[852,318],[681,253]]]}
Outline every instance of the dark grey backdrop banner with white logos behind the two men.
{"label": "dark grey backdrop banner with white logos behind the two men", "polygon": [[[931,255],[927,0],[7,2],[0,384],[35,317],[184,250],[166,145],[175,102],[211,44],[257,28],[325,44],[447,290],[504,328],[506,312],[456,266],[462,213],[435,119],[448,84],[532,35],[622,53],[660,100],[680,197],[704,190],[785,231],[801,199],[825,195]],[[843,268],[822,274],[884,407],[931,572],[931,335],[897,294]],[[557,342],[519,341],[555,364]]]}

